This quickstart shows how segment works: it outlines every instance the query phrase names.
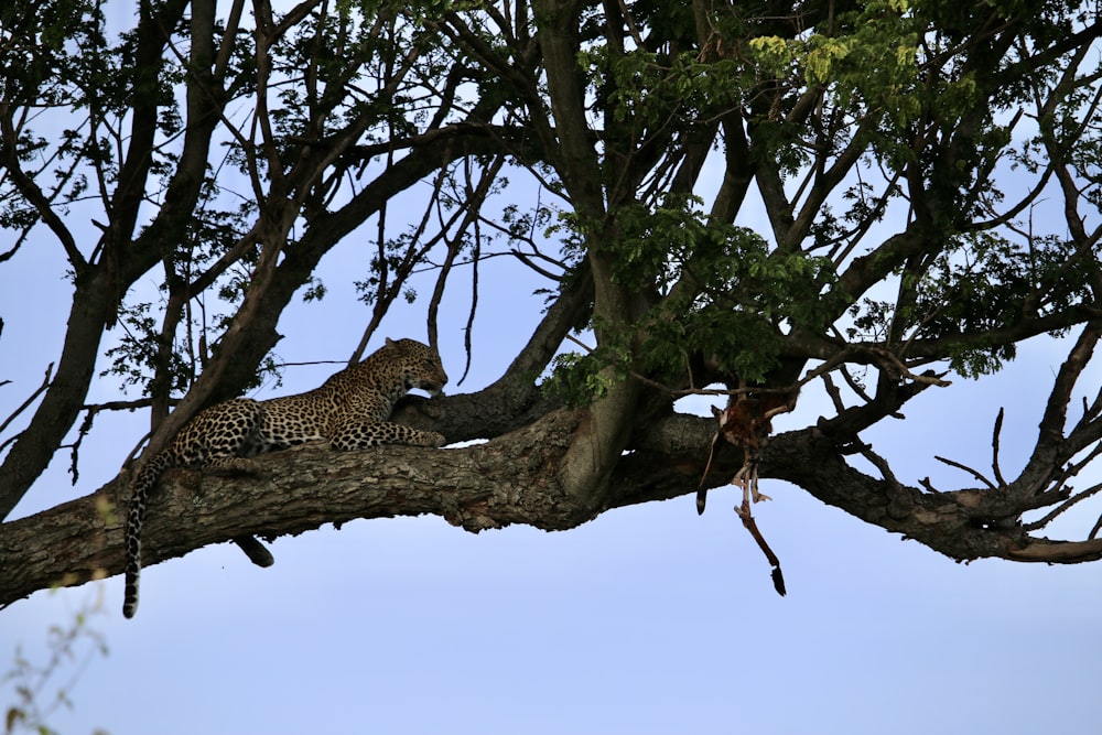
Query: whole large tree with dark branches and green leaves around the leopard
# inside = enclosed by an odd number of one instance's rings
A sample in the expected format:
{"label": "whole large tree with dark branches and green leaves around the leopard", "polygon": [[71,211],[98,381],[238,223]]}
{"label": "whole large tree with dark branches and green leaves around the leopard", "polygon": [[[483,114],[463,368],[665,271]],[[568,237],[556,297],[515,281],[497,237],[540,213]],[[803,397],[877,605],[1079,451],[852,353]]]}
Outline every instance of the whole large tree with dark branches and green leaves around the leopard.
{"label": "whole large tree with dark branches and green leaves around the leopard", "polygon": [[[398,309],[437,344],[456,291],[469,358],[478,310],[503,307],[485,264],[542,279],[495,382],[399,414],[488,441],[170,473],[147,563],[358,517],[565,529],[702,477],[788,480],[955,560],[1102,558],[1102,521],[1041,534],[1102,489],[1069,484],[1102,452],[1084,378],[1102,334],[1102,29],[1085,4],[112,10],[0,9],[0,278],[18,288],[32,248],[60,250],[72,299],[57,354],[23,356],[42,385],[4,388],[23,392],[0,422],[0,517],[60,452],[76,477],[104,413],[147,417],[149,452],[278,371],[281,321],[324,298],[318,263],[353,241],[367,310],[326,327],[352,359]],[[953,460],[961,487],[907,485],[864,439],[1040,335],[1069,350],[1038,376],[1049,398],[1016,475],[1002,415],[992,457]],[[701,393],[719,424],[674,410]],[[830,410],[769,435],[810,396]],[[140,433],[119,437],[120,465]],[[130,469],[0,526],[0,603],[121,571]]]}

